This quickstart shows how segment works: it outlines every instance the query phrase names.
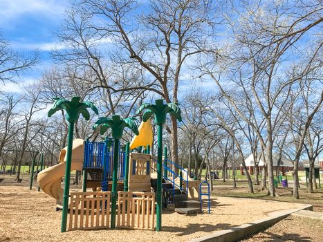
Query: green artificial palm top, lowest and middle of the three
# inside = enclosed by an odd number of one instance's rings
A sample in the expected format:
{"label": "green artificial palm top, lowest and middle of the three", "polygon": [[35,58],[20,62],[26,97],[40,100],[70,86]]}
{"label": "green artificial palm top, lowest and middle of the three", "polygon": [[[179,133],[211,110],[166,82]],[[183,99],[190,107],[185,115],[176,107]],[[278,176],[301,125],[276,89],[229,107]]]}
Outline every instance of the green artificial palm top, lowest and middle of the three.
{"label": "green artificial palm top, lowest and middle of the three", "polygon": [[112,115],[111,118],[101,117],[93,125],[93,129],[100,127],[100,134],[104,134],[109,128],[112,132],[112,137],[120,140],[125,127],[131,129],[137,136],[139,134],[136,118],[121,119],[120,115]]}

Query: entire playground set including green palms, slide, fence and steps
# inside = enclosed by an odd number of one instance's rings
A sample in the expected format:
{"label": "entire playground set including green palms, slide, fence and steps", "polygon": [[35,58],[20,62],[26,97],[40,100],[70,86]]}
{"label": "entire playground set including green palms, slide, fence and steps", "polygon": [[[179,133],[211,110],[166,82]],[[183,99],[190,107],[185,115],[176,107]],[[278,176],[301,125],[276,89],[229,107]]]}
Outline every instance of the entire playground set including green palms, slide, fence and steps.
{"label": "entire playground set including green palms, slide, fence and steps", "polygon": [[[162,206],[167,207],[172,203],[175,211],[183,214],[201,212],[201,201],[189,200],[188,196],[190,189],[195,189],[201,196],[198,183],[189,180],[188,172],[167,158],[167,149],[162,157],[166,114],[170,113],[181,121],[181,111],[177,104],[164,104],[163,100],[156,100],[156,104],[142,104],[138,112],[148,110],[142,116],[146,124],[140,125],[140,132],[135,118],[122,119],[120,115],[112,115],[111,118],[99,118],[93,125],[93,129],[100,129],[101,135],[111,129],[112,138],[105,138],[104,142],[73,141],[74,123],[79,115],[89,120],[87,108],[98,114],[93,103],[80,102],[80,97],[73,97],[71,101],[57,98],[48,111],[50,117],[64,109],[69,122],[68,146],[59,154],[59,164],[44,169],[37,177],[39,187],[55,198],[57,205],[62,205],[61,232],[66,232],[68,214],[68,230],[102,227],[154,230],[155,199],[157,232],[161,230]],[[149,154],[153,137],[149,118],[153,115],[158,125],[157,159]],[[126,151],[120,151],[120,139],[125,127],[136,136],[131,145],[127,143]],[[146,145],[144,153],[130,152],[130,146],[136,148]],[[72,193],[70,198],[69,183],[73,170],[83,170],[83,187],[82,192]],[[63,176],[64,189],[61,187]],[[88,188],[93,189],[93,192],[88,192]],[[194,196],[194,191],[191,191],[190,197]]]}

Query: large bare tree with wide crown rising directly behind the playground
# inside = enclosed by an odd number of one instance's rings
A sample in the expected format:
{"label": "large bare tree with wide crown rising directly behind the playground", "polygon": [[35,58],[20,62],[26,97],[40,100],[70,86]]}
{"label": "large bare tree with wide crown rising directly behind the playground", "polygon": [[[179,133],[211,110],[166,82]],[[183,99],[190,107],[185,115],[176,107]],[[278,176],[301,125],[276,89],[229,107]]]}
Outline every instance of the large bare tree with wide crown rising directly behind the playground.
{"label": "large bare tree with wide crown rising directly behind the playground", "polygon": [[[64,38],[77,39],[74,46],[84,48],[84,57],[90,66],[95,66],[93,71],[100,77],[98,86],[106,88],[107,92],[144,90],[160,95],[166,102],[178,102],[178,84],[186,63],[192,56],[210,51],[213,6],[196,0],[158,0],[145,7],[147,10],[138,14],[136,1],[73,1]],[[71,28],[77,30],[77,37],[71,33]],[[114,53],[110,51],[114,62],[118,60],[118,66],[130,65],[145,81],[124,82],[126,86],[113,89],[111,78],[109,81],[107,74],[103,75],[100,58],[91,51],[93,39],[111,41],[118,48]],[[91,41],[90,45],[86,41]],[[73,55],[67,57],[73,58]],[[112,100],[109,102],[113,111]],[[172,119],[172,129],[168,130],[172,134],[172,158],[178,162],[176,120]]]}

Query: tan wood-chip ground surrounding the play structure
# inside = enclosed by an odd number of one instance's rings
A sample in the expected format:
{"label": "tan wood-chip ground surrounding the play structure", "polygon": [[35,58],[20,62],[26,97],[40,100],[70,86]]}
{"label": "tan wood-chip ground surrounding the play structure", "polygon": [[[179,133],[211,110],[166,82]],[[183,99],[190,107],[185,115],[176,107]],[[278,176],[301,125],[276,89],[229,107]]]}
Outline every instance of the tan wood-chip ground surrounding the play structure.
{"label": "tan wood-chip ground surrounding the play structure", "polygon": [[[23,181],[24,183],[24,181]],[[73,187],[72,187],[73,190]],[[185,216],[163,211],[163,231],[92,230],[60,233],[62,212],[55,212],[55,201],[37,189],[30,191],[2,183],[0,186],[0,238],[4,241],[188,241],[214,231],[227,230],[277,210],[301,205],[246,198],[212,196],[211,214]],[[206,206],[206,205],[205,205]]]}

